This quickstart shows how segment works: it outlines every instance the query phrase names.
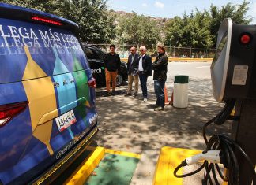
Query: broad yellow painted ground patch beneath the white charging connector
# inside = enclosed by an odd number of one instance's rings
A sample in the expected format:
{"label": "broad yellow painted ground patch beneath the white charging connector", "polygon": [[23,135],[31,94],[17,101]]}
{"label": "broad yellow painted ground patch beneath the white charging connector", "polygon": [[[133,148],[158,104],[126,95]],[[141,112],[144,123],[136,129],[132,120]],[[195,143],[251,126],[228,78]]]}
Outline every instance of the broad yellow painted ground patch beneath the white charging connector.
{"label": "broad yellow painted ground patch beneath the white charging connector", "polygon": [[[173,175],[175,168],[186,158],[201,153],[201,150],[189,150],[164,146],[156,164],[154,185],[182,185],[183,179]],[[182,170],[179,170],[179,174]]]}

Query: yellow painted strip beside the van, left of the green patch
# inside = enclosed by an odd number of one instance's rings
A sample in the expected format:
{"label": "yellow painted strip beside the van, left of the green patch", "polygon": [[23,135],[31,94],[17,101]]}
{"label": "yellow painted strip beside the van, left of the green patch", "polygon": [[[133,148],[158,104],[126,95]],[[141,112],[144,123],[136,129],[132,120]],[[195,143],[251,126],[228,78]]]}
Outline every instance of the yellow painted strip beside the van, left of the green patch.
{"label": "yellow painted strip beside the van, left of the green patch", "polygon": [[96,147],[92,154],[87,157],[84,163],[81,164],[77,171],[73,172],[65,184],[80,185],[84,184],[88,176],[93,172],[94,168],[99,165],[101,159],[104,157],[105,151],[103,147]]}

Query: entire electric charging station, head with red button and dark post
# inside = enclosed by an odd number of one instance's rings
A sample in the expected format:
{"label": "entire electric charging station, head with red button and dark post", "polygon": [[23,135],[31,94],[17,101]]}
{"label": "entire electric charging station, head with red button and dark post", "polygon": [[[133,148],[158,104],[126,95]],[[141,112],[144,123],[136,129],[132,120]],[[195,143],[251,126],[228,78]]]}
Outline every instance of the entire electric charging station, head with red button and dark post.
{"label": "entire electric charging station, head with red button and dark post", "polygon": [[[225,19],[220,25],[216,55],[211,65],[213,94],[217,102],[235,99],[232,139],[256,163],[256,25]],[[239,184],[251,184],[250,173],[239,153]]]}

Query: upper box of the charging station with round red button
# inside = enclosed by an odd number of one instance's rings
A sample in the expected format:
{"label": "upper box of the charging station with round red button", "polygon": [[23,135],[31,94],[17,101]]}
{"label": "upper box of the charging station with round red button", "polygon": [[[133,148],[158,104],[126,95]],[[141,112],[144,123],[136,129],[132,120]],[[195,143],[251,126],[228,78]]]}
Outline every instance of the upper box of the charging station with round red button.
{"label": "upper box of the charging station with round red button", "polygon": [[[254,38],[255,37],[255,38]],[[220,25],[216,54],[211,65],[213,95],[217,102],[256,98],[256,25]]]}

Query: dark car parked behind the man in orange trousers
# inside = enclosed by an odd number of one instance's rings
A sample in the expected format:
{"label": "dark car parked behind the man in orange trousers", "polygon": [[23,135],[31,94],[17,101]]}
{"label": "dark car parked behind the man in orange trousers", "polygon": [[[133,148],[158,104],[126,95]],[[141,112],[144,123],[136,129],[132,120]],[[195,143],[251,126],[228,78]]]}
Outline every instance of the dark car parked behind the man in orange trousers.
{"label": "dark car parked behind the man in orange trousers", "polygon": [[[96,79],[96,82],[100,86],[106,85],[105,69],[104,69],[104,57],[105,53],[96,46],[83,44],[85,54],[88,58],[90,68],[92,70],[92,76]],[[116,77],[116,85],[121,86],[128,80],[127,65],[126,62],[121,61],[118,75]]]}

